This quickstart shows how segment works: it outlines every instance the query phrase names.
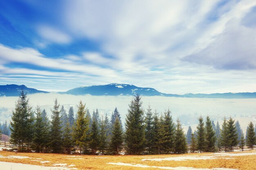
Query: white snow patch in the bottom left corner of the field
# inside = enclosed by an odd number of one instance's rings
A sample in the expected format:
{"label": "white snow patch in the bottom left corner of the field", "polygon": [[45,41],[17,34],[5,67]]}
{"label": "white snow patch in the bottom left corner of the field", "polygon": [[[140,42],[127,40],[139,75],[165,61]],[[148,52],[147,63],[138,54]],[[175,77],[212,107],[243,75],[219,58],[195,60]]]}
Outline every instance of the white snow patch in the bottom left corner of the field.
{"label": "white snow patch in the bottom left corner of the field", "polygon": [[76,170],[76,168],[27,165],[23,163],[0,162],[1,170]]}

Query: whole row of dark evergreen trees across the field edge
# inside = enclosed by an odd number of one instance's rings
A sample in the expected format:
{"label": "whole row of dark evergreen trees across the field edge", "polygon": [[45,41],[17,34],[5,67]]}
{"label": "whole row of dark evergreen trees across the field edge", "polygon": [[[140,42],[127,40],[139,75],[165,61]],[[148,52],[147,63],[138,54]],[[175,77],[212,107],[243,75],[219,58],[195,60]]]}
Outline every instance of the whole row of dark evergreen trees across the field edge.
{"label": "whole row of dark evergreen trees across the field edge", "polygon": [[189,149],[191,152],[232,151],[238,144],[241,148],[245,144],[253,148],[256,142],[252,122],[248,126],[245,141],[231,117],[224,119],[222,128],[218,122],[215,126],[209,116],[205,122],[200,117],[195,132],[189,127],[185,134],[180,120],[174,122],[169,109],[159,114],[148,106],[144,111],[139,95],[135,95],[129,104],[124,128],[117,108],[109,120],[107,115],[100,116],[97,109],[91,116],[82,101],[77,107],[74,117],[72,107],[66,113],[55,99],[49,120],[46,111],[42,111],[39,106],[36,111],[32,111],[27,95],[21,91],[11,117],[10,142],[18,146],[18,152],[35,150],[92,155],[120,152],[132,155],[182,154]]}

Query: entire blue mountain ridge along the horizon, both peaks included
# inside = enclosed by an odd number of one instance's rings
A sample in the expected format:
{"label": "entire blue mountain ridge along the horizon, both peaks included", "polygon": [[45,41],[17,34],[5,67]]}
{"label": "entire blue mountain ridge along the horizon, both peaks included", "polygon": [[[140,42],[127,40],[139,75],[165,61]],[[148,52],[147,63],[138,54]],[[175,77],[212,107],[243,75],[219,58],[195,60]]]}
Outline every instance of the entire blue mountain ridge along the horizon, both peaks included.
{"label": "entire blue mountain ridge along the horizon, both peaks included", "polygon": [[[0,97],[3,96],[18,96],[21,89],[25,90],[27,94],[34,93],[49,93],[47,91],[39,91],[35,88],[28,88],[25,85],[16,85],[16,84],[7,84],[0,85]],[[120,84],[120,83],[111,83],[106,85],[93,85],[93,86],[82,86],[70,89],[66,92],[58,92],[60,94],[71,94],[71,95],[109,95],[109,96],[117,96],[117,95],[135,95],[139,94],[142,96],[165,96],[165,97],[186,97],[186,98],[222,98],[222,99],[250,99],[256,98],[256,92],[242,92],[242,93],[211,93],[211,94],[203,94],[203,93],[186,93],[184,95],[177,94],[166,94],[157,91],[155,88],[150,87],[138,87],[132,84]]]}

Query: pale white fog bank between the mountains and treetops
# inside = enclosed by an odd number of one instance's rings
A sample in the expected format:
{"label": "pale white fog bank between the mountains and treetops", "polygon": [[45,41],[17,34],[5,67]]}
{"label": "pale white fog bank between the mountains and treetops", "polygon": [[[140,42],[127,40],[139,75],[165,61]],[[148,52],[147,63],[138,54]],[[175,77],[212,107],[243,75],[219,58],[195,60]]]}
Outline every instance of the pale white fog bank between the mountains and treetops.
{"label": "pale white fog bank between the mountains and treetops", "polygon": [[[133,96],[91,96],[91,95],[67,95],[58,93],[38,93],[28,95],[31,106],[45,108],[50,116],[50,109],[54,104],[54,99],[57,98],[60,105],[63,105],[68,111],[70,106],[76,105],[82,100],[86,107],[92,111],[98,108],[101,114],[111,115],[112,111],[117,107],[124,122],[127,114],[128,105]],[[18,97],[0,97],[0,108],[7,108],[7,111],[0,111],[0,122],[9,120],[11,110],[15,107],[15,102]],[[179,117],[184,125],[195,124],[197,117],[200,115],[209,115],[213,120],[222,119],[224,116],[232,117],[251,117],[256,115],[256,99],[200,99],[200,98],[180,98],[180,97],[161,97],[142,96],[143,108],[146,110],[150,104],[153,110],[163,113],[164,110],[170,109],[174,120]],[[185,121],[185,122],[184,122]],[[191,121],[191,122],[189,122]],[[249,123],[249,122],[248,122]]]}

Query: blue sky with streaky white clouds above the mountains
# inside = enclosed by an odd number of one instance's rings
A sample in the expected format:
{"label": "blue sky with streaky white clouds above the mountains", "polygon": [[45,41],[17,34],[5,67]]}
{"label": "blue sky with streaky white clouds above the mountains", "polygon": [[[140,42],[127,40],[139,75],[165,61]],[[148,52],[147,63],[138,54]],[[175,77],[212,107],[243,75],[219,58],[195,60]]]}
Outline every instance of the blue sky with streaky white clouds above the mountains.
{"label": "blue sky with streaky white clouds above the mountains", "polygon": [[256,1],[0,1],[0,85],[110,83],[256,92]]}

